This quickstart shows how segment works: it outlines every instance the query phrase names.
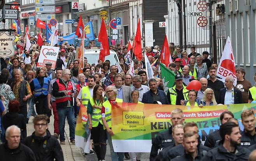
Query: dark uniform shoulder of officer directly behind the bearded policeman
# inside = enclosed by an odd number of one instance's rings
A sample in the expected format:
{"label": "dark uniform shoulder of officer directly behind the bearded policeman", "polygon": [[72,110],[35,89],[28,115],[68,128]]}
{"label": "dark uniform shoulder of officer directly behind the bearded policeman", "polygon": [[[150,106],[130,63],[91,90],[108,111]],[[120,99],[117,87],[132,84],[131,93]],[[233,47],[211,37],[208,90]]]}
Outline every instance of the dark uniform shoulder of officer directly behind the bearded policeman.
{"label": "dark uniform shoulder of officer directly behind the bearded policeman", "polygon": [[222,138],[221,138],[221,134],[219,133],[219,130],[216,130],[212,133],[209,133],[207,139],[205,140],[204,145],[213,149],[218,145],[221,139]]}

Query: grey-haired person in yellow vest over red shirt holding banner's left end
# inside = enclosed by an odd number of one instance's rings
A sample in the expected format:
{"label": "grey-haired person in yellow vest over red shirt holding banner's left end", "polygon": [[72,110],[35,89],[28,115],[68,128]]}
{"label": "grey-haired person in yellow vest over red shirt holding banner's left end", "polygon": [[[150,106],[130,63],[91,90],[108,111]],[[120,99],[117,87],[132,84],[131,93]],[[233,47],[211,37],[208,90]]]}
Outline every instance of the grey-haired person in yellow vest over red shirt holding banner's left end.
{"label": "grey-haired person in yellow vest over red shirt holding banner's left end", "polygon": [[111,109],[119,107],[117,102],[123,102],[122,99],[116,98],[117,96],[117,89],[115,86],[108,86],[106,88],[106,94],[108,100],[106,100],[102,104],[101,114],[102,114],[102,123],[104,130],[107,130],[107,140],[109,142],[110,147],[110,156],[112,161],[123,161],[124,159],[124,152],[114,152],[113,144],[112,144],[112,136],[115,135],[111,130],[112,123],[111,123]]}

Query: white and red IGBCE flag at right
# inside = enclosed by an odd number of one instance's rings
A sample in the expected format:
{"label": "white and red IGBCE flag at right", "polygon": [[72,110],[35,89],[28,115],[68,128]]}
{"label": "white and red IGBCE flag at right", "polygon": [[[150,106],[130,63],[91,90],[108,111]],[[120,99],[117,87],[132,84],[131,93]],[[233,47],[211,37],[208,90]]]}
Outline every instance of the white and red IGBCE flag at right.
{"label": "white and red IGBCE flag at right", "polygon": [[226,76],[233,76],[234,78],[234,86],[237,85],[237,74],[235,72],[235,60],[234,60],[234,54],[233,49],[231,46],[230,38],[228,36],[221,60],[219,62],[219,66],[217,69],[216,76],[219,76],[223,83],[225,83]]}

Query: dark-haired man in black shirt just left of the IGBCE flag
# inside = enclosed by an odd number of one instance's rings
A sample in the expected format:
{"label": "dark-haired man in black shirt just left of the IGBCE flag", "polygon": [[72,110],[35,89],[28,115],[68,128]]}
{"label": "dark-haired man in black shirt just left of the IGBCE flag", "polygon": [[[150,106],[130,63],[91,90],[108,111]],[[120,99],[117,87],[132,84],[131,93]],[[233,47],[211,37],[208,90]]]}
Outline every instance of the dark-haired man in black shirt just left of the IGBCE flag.
{"label": "dark-haired man in black shirt just left of the IGBCE flag", "polygon": [[216,102],[219,104],[219,90],[224,88],[224,84],[222,81],[216,79],[216,68],[215,67],[211,66],[208,69],[208,74],[210,76],[208,78],[208,86],[213,89]]}

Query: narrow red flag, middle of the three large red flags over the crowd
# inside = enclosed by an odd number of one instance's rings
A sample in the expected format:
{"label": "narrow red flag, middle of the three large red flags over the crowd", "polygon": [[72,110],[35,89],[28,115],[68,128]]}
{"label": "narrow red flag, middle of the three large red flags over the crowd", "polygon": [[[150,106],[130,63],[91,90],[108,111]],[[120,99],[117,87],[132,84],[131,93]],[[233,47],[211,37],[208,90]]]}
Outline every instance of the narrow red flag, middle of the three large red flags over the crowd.
{"label": "narrow red flag, middle of the three large red flags over the crowd", "polygon": [[134,55],[137,57],[138,61],[141,61],[142,59],[142,50],[141,50],[141,35],[140,35],[140,19],[137,25],[137,31],[134,38]]}

